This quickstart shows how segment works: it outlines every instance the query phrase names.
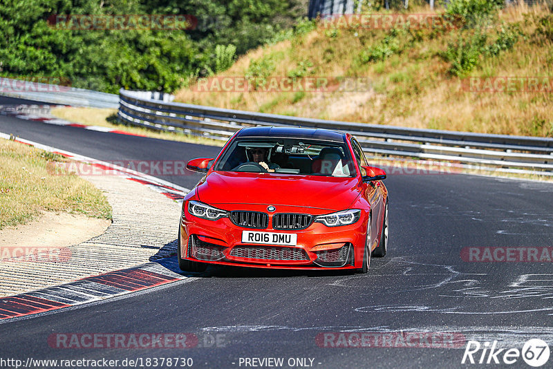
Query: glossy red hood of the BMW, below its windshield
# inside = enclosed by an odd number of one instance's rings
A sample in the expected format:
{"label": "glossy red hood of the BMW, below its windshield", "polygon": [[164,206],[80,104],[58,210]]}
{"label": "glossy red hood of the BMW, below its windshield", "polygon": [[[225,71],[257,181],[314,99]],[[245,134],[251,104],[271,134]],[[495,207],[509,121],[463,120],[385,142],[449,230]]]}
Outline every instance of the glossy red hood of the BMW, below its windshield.
{"label": "glossy red hood of the BMW, below its windshield", "polygon": [[343,210],[359,196],[357,178],[212,172],[196,187],[209,205],[263,204]]}

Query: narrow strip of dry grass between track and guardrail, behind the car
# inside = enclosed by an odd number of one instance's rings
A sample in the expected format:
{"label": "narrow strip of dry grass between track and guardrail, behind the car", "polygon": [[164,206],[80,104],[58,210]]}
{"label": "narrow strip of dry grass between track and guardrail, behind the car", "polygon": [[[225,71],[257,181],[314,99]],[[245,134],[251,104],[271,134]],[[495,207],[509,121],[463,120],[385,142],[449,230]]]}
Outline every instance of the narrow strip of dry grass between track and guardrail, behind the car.
{"label": "narrow strip of dry grass between track and guardrail, behind the car", "polygon": [[109,108],[53,108],[50,111],[55,117],[59,117],[69,122],[85,124],[90,126],[102,126],[118,131],[142,135],[149,138],[157,138],[159,140],[191,142],[194,144],[205,144],[209,146],[223,146],[225,142],[218,140],[209,140],[209,138],[200,138],[193,135],[185,135],[184,133],[171,133],[154,131],[151,129],[142,128],[140,126],[127,126],[118,124],[115,120],[117,109]]}

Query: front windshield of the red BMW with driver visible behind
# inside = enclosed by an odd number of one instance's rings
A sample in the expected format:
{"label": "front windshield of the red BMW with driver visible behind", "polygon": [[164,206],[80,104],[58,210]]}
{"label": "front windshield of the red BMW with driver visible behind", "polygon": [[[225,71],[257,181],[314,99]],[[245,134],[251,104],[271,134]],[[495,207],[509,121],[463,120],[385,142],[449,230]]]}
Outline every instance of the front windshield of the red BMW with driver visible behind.
{"label": "front windshield of the red BMW with driver visible behind", "polygon": [[293,138],[235,140],[215,170],[328,177],[356,174],[345,144]]}

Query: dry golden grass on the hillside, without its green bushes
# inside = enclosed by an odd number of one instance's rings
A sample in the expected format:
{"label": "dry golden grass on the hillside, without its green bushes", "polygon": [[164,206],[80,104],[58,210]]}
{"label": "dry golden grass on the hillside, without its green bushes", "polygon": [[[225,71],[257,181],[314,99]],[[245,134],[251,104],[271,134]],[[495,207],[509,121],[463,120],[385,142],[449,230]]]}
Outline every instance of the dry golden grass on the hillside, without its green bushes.
{"label": "dry golden grass on the hillside, without its green bushes", "polygon": [[[428,13],[427,8],[411,9]],[[547,8],[524,5],[509,7],[499,14],[500,23],[518,22],[523,30],[512,50],[486,57],[470,76],[550,77],[553,79],[553,44],[538,41],[535,33]],[[498,26],[498,25],[496,25]],[[497,30],[498,27],[494,30]],[[452,76],[450,64],[440,55],[449,42],[456,42],[459,30],[435,35],[400,35],[401,53],[384,61],[362,61],[362,50],[378,44],[385,30],[348,30],[337,33],[317,28],[273,46],[244,55],[224,76],[245,76],[252,62],[270,60],[271,76],[288,76],[302,62],[309,62],[306,75],[360,76],[370,79],[372,88],[357,92],[196,92],[183,89],[176,100],[190,104],[262,111],[330,120],[392,124],[429,129],[450,129],[481,133],[553,136],[553,92],[473,93],[461,88],[462,79]]]}

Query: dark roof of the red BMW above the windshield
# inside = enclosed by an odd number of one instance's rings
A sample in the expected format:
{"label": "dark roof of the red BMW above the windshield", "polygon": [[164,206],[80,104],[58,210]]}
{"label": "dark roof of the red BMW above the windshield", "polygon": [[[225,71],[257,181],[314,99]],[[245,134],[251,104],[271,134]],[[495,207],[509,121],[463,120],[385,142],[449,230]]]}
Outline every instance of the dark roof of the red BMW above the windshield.
{"label": "dark roof of the red BMW above the windshield", "polygon": [[241,129],[236,138],[303,138],[344,142],[346,133],[330,129],[300,128],[300,127],[250,127]]}

